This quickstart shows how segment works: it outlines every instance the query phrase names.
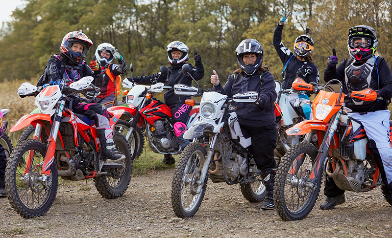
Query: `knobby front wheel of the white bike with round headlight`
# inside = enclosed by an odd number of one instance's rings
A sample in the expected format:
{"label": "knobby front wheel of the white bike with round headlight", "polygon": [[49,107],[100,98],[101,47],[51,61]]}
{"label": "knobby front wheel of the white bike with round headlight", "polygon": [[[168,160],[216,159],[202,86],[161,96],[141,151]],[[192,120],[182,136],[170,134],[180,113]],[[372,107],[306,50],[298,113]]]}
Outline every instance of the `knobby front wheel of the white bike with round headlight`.
{"label": "knobby front wheel of the white bike with round headlight", "polygon": [[192,217],[200,207],[207,176],[200,193],[196,192],[196,181],[200,179],[206,154],[200,143],[191,143],[185,147],[178,159],[172,181],[172,208],[178,217]]}

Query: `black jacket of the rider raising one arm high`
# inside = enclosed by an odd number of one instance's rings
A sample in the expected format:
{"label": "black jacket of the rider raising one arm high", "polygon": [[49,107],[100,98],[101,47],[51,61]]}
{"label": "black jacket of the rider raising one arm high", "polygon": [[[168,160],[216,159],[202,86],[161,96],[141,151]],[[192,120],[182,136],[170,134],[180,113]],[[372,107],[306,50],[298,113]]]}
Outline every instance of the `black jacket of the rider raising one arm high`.
{"label": "black jacket of the rider raising one arm high", "polygon": [[[284,77],[282,88],[290,89],[297,77],[304,79],[307,83],[319,83],[320,77],[317,66],[311,62],[298,60],[294,53],[282,43],[283,26],[284,25],[278,24],[278,26],[276,26],[275,32],[273,33],[273,46],[275,47],[276,52],[278,53],[279,58],[283,63],[283,66],[285,66],[291,58],[282,75]],[[308,67],[310,72],[304,76],[304,69]]]}

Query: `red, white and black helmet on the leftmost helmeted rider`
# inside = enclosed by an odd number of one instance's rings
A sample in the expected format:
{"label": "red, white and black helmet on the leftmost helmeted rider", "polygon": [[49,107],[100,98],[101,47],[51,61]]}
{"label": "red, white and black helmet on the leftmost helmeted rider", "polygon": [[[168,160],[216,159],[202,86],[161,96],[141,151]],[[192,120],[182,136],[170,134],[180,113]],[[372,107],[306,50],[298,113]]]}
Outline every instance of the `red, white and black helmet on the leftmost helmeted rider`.
{"label": "red, white and black helmet on the leftmost helmeted rider", "polygon": [[[83,52],[73,52],[71,50],[73,43],[79,43],[83,45]],[[80,31],[71,31],[64,36],[60,49],[65,56],[77,64],[84,60],[91,45],[93,45],[93,42],[84,33]]]}

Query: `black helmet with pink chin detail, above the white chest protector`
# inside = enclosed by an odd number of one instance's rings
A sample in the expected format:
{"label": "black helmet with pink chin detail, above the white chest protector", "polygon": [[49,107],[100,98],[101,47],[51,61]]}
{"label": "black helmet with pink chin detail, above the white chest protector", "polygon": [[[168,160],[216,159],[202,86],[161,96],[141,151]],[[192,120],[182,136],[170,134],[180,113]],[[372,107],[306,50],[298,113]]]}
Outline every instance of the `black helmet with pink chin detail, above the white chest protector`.
{"label": "black helmet with pink chin detail, above the white chest protector", "polygon": [[[368,49],[365,49],[370,47]],[[377,50],[377,34],[368,25],[357,25],[348,30],[347,48],[354,60],[367,60]]]}

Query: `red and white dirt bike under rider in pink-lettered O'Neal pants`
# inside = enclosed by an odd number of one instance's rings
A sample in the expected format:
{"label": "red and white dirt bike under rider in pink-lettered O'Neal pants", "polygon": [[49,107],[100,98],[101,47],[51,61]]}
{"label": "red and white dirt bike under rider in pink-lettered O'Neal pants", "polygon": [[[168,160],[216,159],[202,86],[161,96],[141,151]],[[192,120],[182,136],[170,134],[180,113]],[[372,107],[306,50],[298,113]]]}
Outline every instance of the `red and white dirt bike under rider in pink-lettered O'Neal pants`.
{"label": "red and white dirt bike under rider in pink-lettered O'Neal pants", "polygon": [[[132,65],[130,68],[132,68]],[[160,71],[161,72],[158,77],[160,77],[162,74],[166,74],[165,71],[167,71],[167,68],[165,66],[161,66]],[[146,132],[150,148],[155,153],[180,153],[184,148],[181,148],[178,145],[178,140],[174,133],[172,109],[158,99],[152,97],[153,93],[160,93],[165,88],[171,87],[166,87],[163,83],[156,83],[151,86],[137,85],[127,79],[123,80],[123,87],[131,88],[125,97],[125,102],[128,107],[114,106],[108,108],[108,111],[122,109],[131,116],[128,122],[124,122],[123,120],[119,121],[116,124],[115,130],[121,132],[121,127],[129,129],[125,136],[125,138],[128,140],[128,143],[132,143],[130,138],[137,137],[139,140],[138,144],[142,146],[144,145],[144,137],[142,136],[142,138],[140,138],[140,136],[138,136],[139,132],[135,133],[135,130],[143,130]],[[194,88],[197,90],[196,87]],[[193,100],[191,101],[194,102]],[[193,125],[198,112],[198,107],[195,107],[191,110],[188,121],[186,123],[187,128]],[[140,143],[141,140],[143,140],[143,143]],[[141,152],[139,149],[137,151]],[[136,157],[138,155],[140,154],[135,154]]]}

